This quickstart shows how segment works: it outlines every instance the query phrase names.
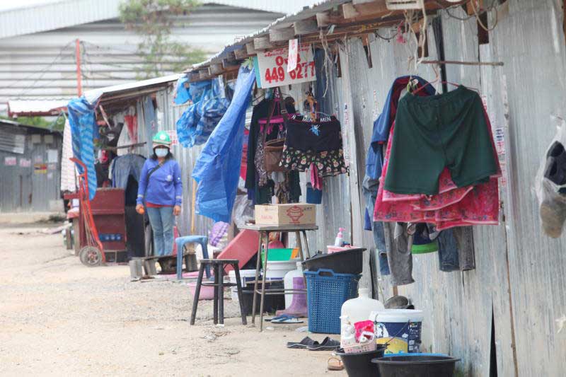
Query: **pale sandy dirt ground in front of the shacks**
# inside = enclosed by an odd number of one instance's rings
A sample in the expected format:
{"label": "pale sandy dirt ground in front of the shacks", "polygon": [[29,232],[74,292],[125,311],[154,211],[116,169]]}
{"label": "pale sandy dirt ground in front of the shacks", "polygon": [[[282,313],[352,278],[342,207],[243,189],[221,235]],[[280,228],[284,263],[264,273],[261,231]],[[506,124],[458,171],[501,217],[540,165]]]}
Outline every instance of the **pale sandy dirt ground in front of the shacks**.
{"label": "pale sandy dirt ground in front of the shacks", "polygon": [[0,217],[0,376],[346,376],[326,370],[330,352],[285,347],[308,335],[298,325],[260,333],[231,300],[225,327],[212,324],[211,301],[190,326],[186,282],[85,267],[61,234],[40,233],[60,224],[32,220]]}

